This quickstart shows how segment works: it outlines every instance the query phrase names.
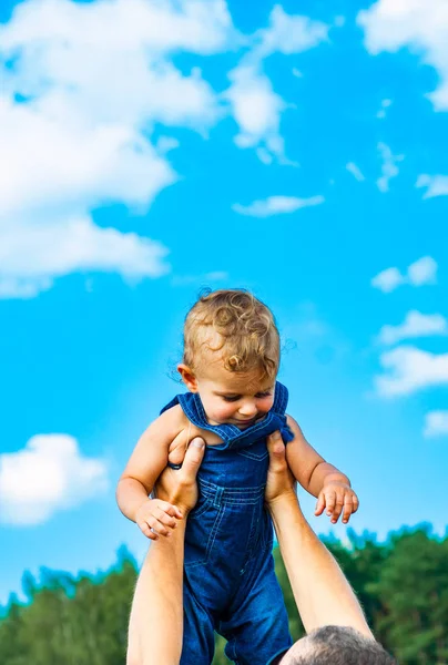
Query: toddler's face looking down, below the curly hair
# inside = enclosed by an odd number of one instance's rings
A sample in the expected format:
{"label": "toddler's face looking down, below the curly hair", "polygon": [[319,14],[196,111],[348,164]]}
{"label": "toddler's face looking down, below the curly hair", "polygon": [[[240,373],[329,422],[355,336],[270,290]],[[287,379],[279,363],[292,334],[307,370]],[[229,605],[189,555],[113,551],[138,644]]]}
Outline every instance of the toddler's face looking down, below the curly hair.
{"label": "toddler's face looking down, below the curly hair", "polygon": [[246,429],[264,418],[274,403],[275,380],[226,370],[213,362],[196,376],[207,420],[211,424],[236,424]]}

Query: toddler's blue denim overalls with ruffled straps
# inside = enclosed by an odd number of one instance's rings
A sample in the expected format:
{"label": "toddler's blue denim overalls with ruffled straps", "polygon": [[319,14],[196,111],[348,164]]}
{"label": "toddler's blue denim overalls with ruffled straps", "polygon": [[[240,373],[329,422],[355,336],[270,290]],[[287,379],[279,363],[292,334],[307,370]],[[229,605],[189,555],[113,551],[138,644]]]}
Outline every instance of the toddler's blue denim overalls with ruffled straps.
{"label": "toddler's blue denim overalls with ruffled straps", "polygon": [[287,397],[277,382],[271,411],[243,431],[208,424],[197,393],[179,395],[162,410],[181,405],[191,422],[223,441],[205,448],[200,498],[186,523],[181,665],[212,663],[214,631],[227,640],[225,653],[238,665],[266,665],[292,644],[264,508],[266,437],[281,430],[285,443],[293,439]]}

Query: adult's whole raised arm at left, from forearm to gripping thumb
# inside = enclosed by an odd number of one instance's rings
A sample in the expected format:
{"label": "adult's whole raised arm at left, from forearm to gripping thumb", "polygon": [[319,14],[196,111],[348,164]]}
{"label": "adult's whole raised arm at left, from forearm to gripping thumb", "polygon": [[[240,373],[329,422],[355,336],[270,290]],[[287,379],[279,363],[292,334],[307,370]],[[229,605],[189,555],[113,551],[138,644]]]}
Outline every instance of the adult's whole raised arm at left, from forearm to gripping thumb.
{"label": "adult's whole raised arm at left, from forearm to gripping thumb", "polygon": [[185,524],[197,501],[196,473],[204,454],[193,439],[182,469],[165,469],[155,491],[182,513],[170,538],[155,540],[147,552],[132,602],[126,665],[179,665],[183,638],[183,562]]}

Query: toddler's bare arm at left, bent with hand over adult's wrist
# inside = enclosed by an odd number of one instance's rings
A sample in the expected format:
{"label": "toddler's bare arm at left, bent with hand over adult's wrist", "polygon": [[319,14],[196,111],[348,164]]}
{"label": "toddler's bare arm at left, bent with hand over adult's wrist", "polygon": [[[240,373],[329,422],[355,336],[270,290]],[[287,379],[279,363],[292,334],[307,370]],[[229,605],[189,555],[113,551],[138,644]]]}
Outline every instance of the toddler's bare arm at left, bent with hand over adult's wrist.
{"label": "toddler's bare arm at left, bent with hand over adult's wrist", "polygon": [[121,512],[152,540],[157,533],[169,535],[175,526],[175,518],[180,516],[175,507],[160,499],[149,499],[149,494],[166,467],[170,444],[184,428],[185,416],[179,406],[154,420],[140,437],[116,487]]}

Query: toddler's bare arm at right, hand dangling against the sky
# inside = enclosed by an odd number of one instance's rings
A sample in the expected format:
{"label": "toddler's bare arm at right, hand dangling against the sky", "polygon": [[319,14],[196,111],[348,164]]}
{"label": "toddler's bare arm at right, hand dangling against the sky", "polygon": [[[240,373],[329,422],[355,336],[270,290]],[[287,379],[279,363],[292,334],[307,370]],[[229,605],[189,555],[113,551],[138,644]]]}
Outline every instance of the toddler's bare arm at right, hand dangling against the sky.
{"label": "toddler's bare arm at right, hand dangling against the sky", "polygon": [[359,505],[350,481],[307,442],[294,418],[287,416],[287,422],[293,430],[294,440],[286,446],[286,459],[301,485],[318,498],[315,514],[320,515],[326,508],[334,524],[340,513],[343,522],[347,523]]}

